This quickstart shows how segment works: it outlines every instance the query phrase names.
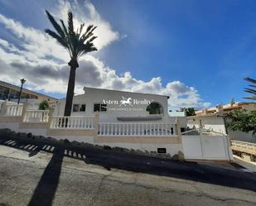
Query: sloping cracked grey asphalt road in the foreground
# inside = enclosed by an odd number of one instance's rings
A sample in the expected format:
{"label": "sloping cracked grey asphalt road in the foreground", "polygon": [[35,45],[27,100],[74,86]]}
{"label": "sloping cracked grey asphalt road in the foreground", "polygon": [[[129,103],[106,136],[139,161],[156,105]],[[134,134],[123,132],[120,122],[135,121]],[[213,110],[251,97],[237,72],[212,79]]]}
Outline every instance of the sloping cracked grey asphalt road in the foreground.
{"label": "sloping cracked grey asphalt road in the foreground", "polygon": [[0,206],[256,205],[256,175],[0,137]]}

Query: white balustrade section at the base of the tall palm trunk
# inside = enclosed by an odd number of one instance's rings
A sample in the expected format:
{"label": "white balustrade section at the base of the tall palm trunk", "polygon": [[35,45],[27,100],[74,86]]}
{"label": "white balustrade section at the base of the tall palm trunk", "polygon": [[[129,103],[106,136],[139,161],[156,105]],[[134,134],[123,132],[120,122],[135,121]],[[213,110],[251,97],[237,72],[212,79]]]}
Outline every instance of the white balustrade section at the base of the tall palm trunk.
{"label": "white balustrade section at the base of the tall palm trunk", "polygon": [[53,117],[53,129],[94,129],[94,117]]}

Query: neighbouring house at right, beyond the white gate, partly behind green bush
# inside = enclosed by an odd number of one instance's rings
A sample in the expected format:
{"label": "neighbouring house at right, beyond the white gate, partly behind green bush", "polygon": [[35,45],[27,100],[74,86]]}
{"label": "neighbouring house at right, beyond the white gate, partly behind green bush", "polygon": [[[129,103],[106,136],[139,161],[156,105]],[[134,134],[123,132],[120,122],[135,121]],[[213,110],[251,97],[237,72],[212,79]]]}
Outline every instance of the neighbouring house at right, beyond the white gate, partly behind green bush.
{"label": "neighbouring house at right, beyond the white gate, partly behind green bush", "polygon": [[208,108],[196,112],[196,116],[187,117],[187,126],[190,128],[205,128],[215,132],[227,133],[230,139],[239,141],[256,142],[252,132],[234,132],[225,127],[225,113],[234,109],[246,109],[256,112],[256,103],[232,103],[215,108]]}

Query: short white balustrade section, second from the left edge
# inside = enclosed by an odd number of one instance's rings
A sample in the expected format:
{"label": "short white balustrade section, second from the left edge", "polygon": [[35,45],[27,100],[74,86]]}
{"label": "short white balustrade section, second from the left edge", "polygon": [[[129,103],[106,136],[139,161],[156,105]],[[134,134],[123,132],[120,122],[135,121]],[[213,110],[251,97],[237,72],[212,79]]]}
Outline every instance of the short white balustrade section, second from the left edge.
{"label": "short white balustrade section, second from the left edge", "polygon": [[24,122],[48,122],[49,110],[27,110]]}

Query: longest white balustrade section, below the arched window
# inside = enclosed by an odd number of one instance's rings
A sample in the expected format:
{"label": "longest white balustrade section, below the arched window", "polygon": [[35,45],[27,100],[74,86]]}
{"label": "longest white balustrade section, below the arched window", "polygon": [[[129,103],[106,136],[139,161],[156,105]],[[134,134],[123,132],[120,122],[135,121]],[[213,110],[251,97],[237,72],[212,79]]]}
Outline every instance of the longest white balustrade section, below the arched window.
{"label": "longest white balustrade section, below the arched window", "polygon": [[100,122],[99,136],[175,136],[176,123]]}

